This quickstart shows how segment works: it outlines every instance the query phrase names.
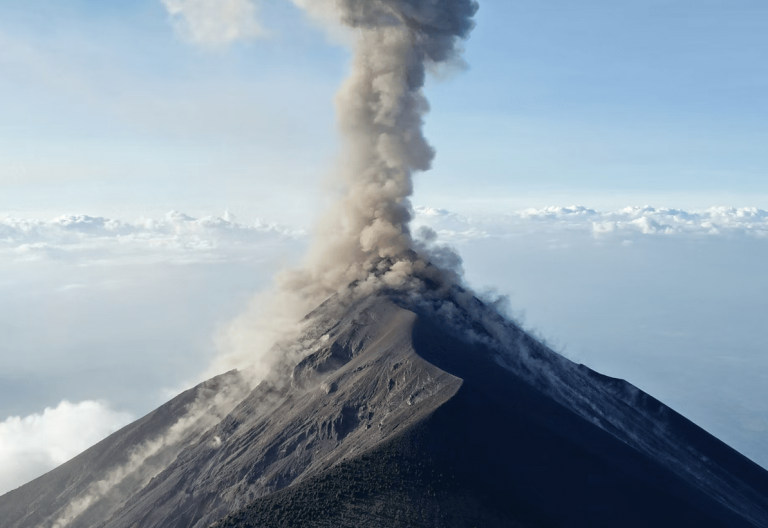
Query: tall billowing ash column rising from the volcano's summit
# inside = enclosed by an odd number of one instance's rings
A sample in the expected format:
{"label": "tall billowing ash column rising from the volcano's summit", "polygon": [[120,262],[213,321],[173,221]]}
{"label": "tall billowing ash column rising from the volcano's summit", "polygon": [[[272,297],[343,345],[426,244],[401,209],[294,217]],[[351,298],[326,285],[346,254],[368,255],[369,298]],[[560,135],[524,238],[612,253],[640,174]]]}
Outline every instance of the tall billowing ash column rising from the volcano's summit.
{"label": "tall billowing ash column rising from the volcano's summit", "polygon": [[336,99],[344,136],[338,168],[341,202],[321,225],[306,269],[286,274],[284,289],[309,304],[379,287],[419,291],[450,281],[427,265],[408,228],[415,171],[434,151],[422,132],[429,110],[428,67],[458,58],[474,26],[474,0],[294,0],[310,14],[332,14],[357,33],[352,72]]}

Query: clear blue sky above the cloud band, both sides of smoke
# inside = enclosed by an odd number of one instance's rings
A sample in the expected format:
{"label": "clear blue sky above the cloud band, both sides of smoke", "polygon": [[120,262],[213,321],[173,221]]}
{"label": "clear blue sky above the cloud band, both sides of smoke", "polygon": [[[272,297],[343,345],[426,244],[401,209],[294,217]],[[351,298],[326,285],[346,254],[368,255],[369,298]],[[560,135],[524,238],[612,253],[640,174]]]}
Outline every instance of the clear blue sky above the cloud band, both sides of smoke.
{"label": "clear blue sky above the cloud band, both sides of smoke", "polygon": [[[428,87],[439,155],[417,202],[764,205],[766,11],[483,2],[470,70]],[[266,38],[211,50],[179,39],[158,0],[4,1],[0,207],[307,221],[348,52],[287,1],[260,15]],[[292,210],[270,205],[286,191]]]}

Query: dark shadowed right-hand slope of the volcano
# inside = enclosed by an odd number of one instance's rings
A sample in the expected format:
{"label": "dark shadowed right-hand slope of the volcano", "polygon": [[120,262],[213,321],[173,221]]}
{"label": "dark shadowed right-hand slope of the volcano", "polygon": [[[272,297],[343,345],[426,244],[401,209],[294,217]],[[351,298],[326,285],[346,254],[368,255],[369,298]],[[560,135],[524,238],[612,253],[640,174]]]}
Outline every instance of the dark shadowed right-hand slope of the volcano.
{"label": "dark shadowed right-hand slope of the volcano", "polygon": [[509,330],[528,367],[422,315],[414,349],[463,380],[456,395],[393,441],[215,527],[768,526],[762,468],[626,382]]}

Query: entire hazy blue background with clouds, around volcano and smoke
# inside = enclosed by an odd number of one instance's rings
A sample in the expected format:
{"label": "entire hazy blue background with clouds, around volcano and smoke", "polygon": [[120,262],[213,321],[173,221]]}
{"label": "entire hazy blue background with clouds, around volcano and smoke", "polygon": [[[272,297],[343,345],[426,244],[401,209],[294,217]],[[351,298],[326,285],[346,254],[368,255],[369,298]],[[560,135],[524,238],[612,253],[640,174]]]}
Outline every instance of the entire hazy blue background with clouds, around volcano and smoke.
{"label": "entire hazy blue background with clouds, around volcano and smoke", "polygon": [[[417,222],[557,350],[768,465],[768,4],[480,4],[428,81]],[[306,248],[350,54],[250,5],[265,34],[215,45],[161,0],[0,0],[0,493],[197,379]]]}

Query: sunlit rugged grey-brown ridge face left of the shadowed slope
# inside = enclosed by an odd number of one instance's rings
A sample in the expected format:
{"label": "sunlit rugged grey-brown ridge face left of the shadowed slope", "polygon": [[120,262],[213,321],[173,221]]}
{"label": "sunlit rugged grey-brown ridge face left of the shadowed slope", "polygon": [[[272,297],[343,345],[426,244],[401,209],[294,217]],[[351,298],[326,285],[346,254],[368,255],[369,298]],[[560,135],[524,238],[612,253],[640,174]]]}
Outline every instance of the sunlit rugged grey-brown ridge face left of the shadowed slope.
{"label": "sunlit rugged grey-brown ridge face left of the shadowed slope", "polygon": [[354,306],[288,383],[260,385],[99,526],[207,526],[408,429],[461,385],[414,353],[415,320],[390,302]]}

